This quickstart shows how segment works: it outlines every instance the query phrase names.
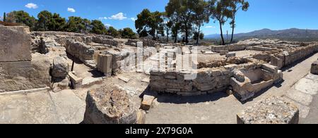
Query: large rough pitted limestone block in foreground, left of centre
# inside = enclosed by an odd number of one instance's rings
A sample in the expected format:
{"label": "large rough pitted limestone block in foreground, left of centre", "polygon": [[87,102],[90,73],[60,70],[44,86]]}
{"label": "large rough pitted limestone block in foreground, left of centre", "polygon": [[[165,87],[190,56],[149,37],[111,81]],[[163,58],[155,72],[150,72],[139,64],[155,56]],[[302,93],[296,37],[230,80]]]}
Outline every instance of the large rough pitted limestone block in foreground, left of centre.
{"label": "large rough pitted limestone block in foreground, left of centre", "polygon": [[103,86],[90,90],[86,98],[85,124],[134,124],[139,107],[127,92],[117,87]]}

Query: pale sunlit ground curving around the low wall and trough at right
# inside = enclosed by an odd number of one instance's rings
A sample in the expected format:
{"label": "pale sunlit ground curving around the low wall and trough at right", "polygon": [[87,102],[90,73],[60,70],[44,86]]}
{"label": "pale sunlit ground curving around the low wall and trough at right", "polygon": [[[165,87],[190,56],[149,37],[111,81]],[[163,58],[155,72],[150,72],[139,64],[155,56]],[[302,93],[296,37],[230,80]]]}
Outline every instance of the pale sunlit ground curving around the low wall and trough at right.
{"label": "pale sunlit ground curving around the low wall and trough at right", "polygon": [[317,58],[318,54],[314,54],[300,63],[284,68],[284,82],[260,92],[247,103],[241,103],[235,96],[224,93],[191,97],[160,95],[146,115],[146,123],[235,124],[238,112],[269,95],[291,97],[288,99],[299,102],[300,123],[318,123],[318,96],[314,93],[318,85],[312,75],[308,75],[311,63]]}

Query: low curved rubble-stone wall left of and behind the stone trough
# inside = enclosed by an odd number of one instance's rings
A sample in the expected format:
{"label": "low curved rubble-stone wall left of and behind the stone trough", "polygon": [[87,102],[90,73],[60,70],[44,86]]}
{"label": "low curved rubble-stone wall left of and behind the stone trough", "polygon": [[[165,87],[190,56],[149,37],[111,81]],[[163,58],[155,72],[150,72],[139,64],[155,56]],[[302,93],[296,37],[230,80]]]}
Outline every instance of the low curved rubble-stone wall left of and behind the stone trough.
{"label": "low curved rubble-stone wall left of and behind the stone trough", "polygon": [[151,70],[150,88],[153,92],[192,96],[212,94],[230,89],[233,70],[257,70],[261,62],[253,61],[241,64],[228,64],[217,68],[199,68],[190,73],[182,71]]}

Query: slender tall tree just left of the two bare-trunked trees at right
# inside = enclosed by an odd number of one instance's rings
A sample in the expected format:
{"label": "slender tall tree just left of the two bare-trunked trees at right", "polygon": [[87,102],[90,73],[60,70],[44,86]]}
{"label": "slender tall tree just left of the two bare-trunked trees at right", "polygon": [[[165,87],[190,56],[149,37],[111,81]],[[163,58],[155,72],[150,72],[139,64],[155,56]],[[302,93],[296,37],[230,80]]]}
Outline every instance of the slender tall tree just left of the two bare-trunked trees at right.
{"label": "slender tall tree just left of the two bare-trunked trees at right", "polygon": [[[201,26],[204,23],[209,22],[209,15],[208,15],[208,3],[204,0],[196,0],[196,6],[194,7],[194,24],[198,31],[196,32],[197,35],[201,35]],[[194,33],[194,35],[196,35]],[[199,44],[199,39],[196,39],[196,44]]]}

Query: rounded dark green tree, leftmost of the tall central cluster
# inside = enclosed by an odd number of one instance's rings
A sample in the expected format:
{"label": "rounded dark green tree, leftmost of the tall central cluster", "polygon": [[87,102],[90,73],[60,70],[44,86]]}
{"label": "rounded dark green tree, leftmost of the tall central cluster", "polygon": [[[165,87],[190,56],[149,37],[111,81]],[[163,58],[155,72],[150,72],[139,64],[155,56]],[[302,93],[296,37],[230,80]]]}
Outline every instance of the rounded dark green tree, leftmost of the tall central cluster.
{"label": "rounded dark green tree, leftmost of the tall central cluster", "polygon": [[155,11],[151,13],[148,9],[143,9],[141,13],[137,15],[137,20],[135,21],[135,27],[137,32],[141,37],[146,37],[147,35],[153,36],[153,39],[158,38],[158,33],[163,31],[162,23],[163,18],[162,13]]}

